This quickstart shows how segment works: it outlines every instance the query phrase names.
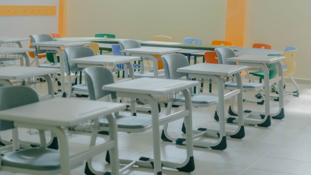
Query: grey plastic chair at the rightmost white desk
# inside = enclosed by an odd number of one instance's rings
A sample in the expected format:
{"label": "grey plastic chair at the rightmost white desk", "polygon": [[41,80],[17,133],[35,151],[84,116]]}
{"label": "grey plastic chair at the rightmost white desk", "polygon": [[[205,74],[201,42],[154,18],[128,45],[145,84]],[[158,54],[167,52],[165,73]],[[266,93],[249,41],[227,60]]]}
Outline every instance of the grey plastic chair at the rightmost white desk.
{"label": "grey plastic chair at the rightmost white desk", "polygon": [[[216,48],[215,49],[217,58],[218,58],[218,64],[231,64],[231,65],[237,65],[236,62],[232,61],[227,61],[228,58],[235,57],[234,50],[230,48]],[[248,83],[248,82],[243,82],[242,83],[243,91],[258,91],[260,89],[263,89],[262,83]],[[233,90],[237,88],[237,82],[236,81],[229,81],[225,82],[225,89]],[[233,96],[231,98],[230,106],[229,106],[229,114],[237,116],[238,112],[234,111],[233,105],[234,105],[234,98]],[[262,101],[251,101],[251,100],[243,100],[243,102],[252,102],[256,104],[263,104],[264,103],[264,97],[262,97]],[[215,119],[218,119],[217,113],[215,113]]]}

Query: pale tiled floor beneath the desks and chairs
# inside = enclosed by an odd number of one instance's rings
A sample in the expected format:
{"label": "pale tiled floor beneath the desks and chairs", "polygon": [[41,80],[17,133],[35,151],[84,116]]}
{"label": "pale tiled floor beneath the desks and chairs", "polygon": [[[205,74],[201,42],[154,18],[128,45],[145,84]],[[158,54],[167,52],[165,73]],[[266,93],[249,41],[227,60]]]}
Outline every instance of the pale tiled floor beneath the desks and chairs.
{"label": "pale tiled floor beneath the desks and chairs", "polygon": [[[300,84],[299,97],[285,97],[285,118],[272,119],[268,128],[245,125],[243,139],[227,138],[227,149],[223,151],[194,147],[195,170],[192,173],[178,172],[174,169],[163,169],[165,175],[310,175],[311,174],[311,85]],[[46,85],[37,84],[38,92],[44,92]],[[293,87],[287,83],[286,88]],[[205,84],[203,93],[208,93]],[[217,94],[216,85],[213,85],[212,94]],[[244,98],[253,98],[254,92],[244,92]],[[88,98],[82,98],[88,100]],[[226,110],[229,101],[226,101]],[[278,110],[277,102],[270,101],[272,111]],[[65,106],[60,106],[65,107]],[[182,107],[174,108],[179,110]],[[244,109],[263,111],[263,105],[254,105],[244,102]],[[51,109],[53,110],[53,109]],[[57,109],[56,109],[57,110]],[[165,114],[165,107],[161,108],[161,115]],[[208,108],[193,108],[193,128],[217,127],[213,115],[215,106]],[[182,120],[169,125],[169,133],[174,136],[181,135]],[[236,127],[226,124],[226,128]],[[67,131],[72,152],[85,149],[88,146],[90,133]],[[35,130],[20,129],[20,139],[39,141]],[[1,132],[5,139],[10,138],[10,132]],[[47,133],[49,135],[49,133]],[[139,157],[152,158],[151,130],[143,133],[118,133],[119,157],[138,159]],[[107,136],[100,135],[97,142],[103,141]],[[161,141],[161,156],[164,160],[182,162],[185,158],[185,146]],[[98,170],[109,170],[109,164],[104,160],[105,153],[93,158],[94,167]],[[126,173],[148,175],[153,174],[149,168],[131,168]],[[15,173],[1,172],[2,175]],[[20,174],[20,173],[19,173]],[[84,174],[84,164],[74,170],[72,174]]]}

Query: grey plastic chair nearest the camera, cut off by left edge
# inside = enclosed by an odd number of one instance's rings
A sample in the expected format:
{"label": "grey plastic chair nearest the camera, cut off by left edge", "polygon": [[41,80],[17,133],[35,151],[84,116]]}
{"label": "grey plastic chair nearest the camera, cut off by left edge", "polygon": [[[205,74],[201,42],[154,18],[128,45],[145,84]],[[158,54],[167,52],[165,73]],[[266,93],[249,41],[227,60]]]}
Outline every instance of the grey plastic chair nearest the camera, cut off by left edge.
{"label": "grey plastic chair nearest the camera, cut off by left edge", "polygon": [[[10,109],[35,102],[39,102],[39,97],[35,90],[30,87],[13,86],[0,88],[0,110]],[[7,129],[17,130],[17,128],[14,128],[12,121],[0,120],[0,130]],[[44,135],[44,131],[39,132],[41,133],[40,135]],[[40,139],[45,138],[40,137]],[[18,134],[13,135],[13,144],[15,143],[18,143]],[[59,155],[59,151],[45,147],[22,149],[1,156],[0,169],[29,174],[45,174],[45,171],[49,171],[49,174],[51,174],[51,172],[53,172],[53,174],[58,174],[60,172],[57,171],[60,169]]]}

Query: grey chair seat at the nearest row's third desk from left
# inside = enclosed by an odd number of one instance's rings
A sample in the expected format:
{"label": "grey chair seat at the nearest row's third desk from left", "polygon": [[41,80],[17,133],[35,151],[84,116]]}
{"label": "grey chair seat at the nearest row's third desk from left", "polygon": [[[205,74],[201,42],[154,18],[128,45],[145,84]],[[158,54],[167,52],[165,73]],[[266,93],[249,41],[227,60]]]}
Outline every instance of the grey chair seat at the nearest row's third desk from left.
{"label": "grey chair seat at the nearest row's third desk from left", "polygon": [[[174,102],[185,102],[185,97],[183,94],[176,94],[173,96]],[[191,94],[191,102],[193,104],[216,104],[218,102],[218,97],[200,94]]]}

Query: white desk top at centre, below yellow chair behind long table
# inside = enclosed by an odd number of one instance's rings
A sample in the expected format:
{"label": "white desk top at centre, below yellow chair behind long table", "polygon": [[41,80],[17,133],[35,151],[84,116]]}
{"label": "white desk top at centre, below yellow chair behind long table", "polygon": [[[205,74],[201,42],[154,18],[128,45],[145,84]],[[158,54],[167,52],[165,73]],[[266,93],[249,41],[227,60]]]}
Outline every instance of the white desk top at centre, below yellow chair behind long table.
{"label": "white desk top at centre, below yellow chair behind long table", "polygon": [[178,51],[182,51],[182,49],[178,48],[168,48],[168,47],[139,47],[133,49],[123,49],[122,52],[129,52],[135,54],[155,54],[155,55],[162,55],[162,54],[171,54]]}

